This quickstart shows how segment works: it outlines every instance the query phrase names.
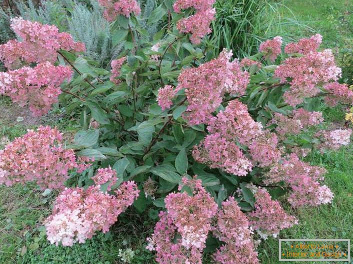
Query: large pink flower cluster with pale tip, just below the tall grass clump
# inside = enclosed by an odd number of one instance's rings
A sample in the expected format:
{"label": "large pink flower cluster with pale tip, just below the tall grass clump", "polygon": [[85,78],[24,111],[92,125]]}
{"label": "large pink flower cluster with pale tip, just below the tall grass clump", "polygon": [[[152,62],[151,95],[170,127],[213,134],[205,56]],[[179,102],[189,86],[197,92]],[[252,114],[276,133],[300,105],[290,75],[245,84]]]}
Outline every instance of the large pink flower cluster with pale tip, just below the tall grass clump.
{"label": "large pink flower cluster with pale tip, just below the tall grass clump", "polygon": [[241,70],[238,60],[229,62],[231,56],[231,51],[223,50],[216,59],[179,74],[175,92],[185,89],[188,105],[183,117],[191,125],[207,123],[225,93],[245,93],[249,74]]}

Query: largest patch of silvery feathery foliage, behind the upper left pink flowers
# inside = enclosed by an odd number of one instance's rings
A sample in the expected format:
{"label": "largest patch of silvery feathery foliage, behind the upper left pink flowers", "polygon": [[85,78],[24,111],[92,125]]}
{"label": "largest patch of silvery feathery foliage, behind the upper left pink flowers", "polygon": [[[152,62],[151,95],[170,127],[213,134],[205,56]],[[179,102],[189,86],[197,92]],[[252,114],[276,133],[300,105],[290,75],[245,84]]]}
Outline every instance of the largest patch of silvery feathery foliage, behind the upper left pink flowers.
{"label": "largest patch of silvery feathery foliage, behind the upper left pink flowers", "polygon": [[17,2],[19,15],[24,19],[54,24],[60,31],[68,31],[76,41],[86,46],[86,55],[105,66],[116,53],[111,47],[109,23],[103,18],[96,0],[88,3],[71,0],[44,0],[35,6],[32,0]]}

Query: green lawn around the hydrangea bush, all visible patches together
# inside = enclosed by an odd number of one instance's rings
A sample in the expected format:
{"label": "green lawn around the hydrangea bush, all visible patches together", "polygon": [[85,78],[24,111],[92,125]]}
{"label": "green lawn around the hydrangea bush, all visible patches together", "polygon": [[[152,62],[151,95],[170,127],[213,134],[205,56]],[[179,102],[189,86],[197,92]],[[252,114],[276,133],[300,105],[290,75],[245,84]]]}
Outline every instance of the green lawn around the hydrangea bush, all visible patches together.
{"label": "green lawn around the hydrangea bush, all visible patches together", "polygon": [[[303,28],[289,25],[285,30],[293,38],[318,32],[324,47],[334,47],[343,68],[343,81],[353,83],[353,2],[351,0],[283,0],[283,17],[295,16]],[[284,7],[284,5],[286,7]],[[78,129],[54,110],[45,118],[33,119],[27,111],[10,106],[0,99],[0,147],[26,129],[39,124],[58,126],[70,138]],[[322,109],[327,122],[344,123],[346,109]],[[335,197],[330,205],[301,208],[292,212],[299,224],[280,233],[280,239],[353,239],[353,145],[337,152],[313,153],[306,157],[312,165],[327,170],[325,184]],[[0,264],[149,264],[153,254],[144,249],[145,237],[153,227],[153,214],[141,218],[134,209],[127,210],[112,230],[99,234],[85,244],[71,248],[49,245],[42,220],[50,213],[55,193],[43,194],[33,184],[0,187]],[[288,211],[291,210],[288,206]],[[138,223],[138,224],[136,224]],[[351,241],[351,244],[353,241]],[[134,256],[129,254],[130,249]],[[351,255],[353,255],[353,246]],[[278,240],[269,238],[257,249],[262,264],[278,263]],[[131,261],[130,261],[131,260]],[[295,264],[294,262],[292,262]],[[317,262],[318,264],[328,264]],[[352,262],[353,263],[353,262]],[[298,262],[300,264],[300,262]],[[314,264],[314,262],[312,262]]]}

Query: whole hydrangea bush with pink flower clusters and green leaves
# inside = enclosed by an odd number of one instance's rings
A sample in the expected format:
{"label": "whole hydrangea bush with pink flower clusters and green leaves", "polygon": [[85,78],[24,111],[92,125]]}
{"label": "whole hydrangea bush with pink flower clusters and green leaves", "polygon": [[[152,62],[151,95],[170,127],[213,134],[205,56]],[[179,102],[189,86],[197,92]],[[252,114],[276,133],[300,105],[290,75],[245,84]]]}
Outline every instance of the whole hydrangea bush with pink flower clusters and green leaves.
{"label": "whole hydrangea bush with pink flower clusters and green leaves", "polygon": [[259,239],[298,223],[279,197],[293,208],[331,203],[324,168],[302,157],[349,144],[351,129],[319,111],[353,102],[332,52],[316,34],[216,55],[213,2],[165,0],[147,23],[167,22],[148,36],[137,1],[99,1],[124,46],[109,70],[55,26],[11,20],[18,39],[0,45],[0,93],[38,116],[59,102],[81,125],[69,145],[39,127],[0,152],[0,183],[59,190],[44,222],[50,243],[84,243],[127,207],[155,207],[146,248],[158,263],[201,264],[206,251],[215,263],[256,264]]}

